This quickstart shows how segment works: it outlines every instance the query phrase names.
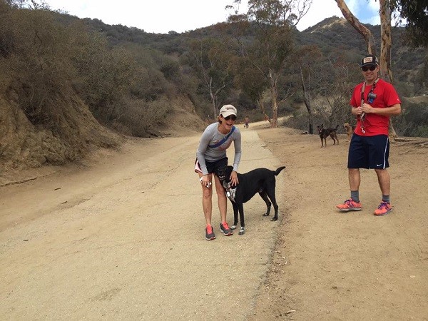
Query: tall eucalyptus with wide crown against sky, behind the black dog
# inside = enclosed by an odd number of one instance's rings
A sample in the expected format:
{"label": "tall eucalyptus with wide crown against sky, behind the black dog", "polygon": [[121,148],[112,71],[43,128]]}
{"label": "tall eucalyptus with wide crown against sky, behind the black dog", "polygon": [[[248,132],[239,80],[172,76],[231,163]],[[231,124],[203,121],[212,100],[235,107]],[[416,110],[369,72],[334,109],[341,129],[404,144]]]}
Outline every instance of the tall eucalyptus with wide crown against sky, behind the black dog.
{"label": "tall eucalyptus with wide crown against sky, behind the black dog", "polygon": [[[234,4],[238,6],[240,0],[235,0]],[[295,49],[293,31],[311,4],[312,0],[249,0],[247,13],[235,11],[228,19],[236,26],[235,39],[240,45],[240,53],[251,61],[268,83],[272,128],[277,127],[278,102],[287,98],[280,97],[279,86],[283,71],[287,64],[292,63],[290,56]],[[249,29],[255,30],[253,42],[245,41],[244,36]]]}

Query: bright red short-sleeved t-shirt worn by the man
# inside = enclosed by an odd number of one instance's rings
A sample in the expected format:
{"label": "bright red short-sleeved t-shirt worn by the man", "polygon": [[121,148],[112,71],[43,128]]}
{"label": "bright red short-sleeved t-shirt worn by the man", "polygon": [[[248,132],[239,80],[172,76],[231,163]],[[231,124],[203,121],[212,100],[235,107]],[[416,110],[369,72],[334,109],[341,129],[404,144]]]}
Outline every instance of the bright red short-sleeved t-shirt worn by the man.
{"label": "bright red short-sleeved t-shirt worn by the man", "polygon": [[[354,93],[350,100],[350,105],[352,107],[361,106],[361,89],[363,83],[359,83],[354,88]],[[365,103],[367,102],[367,96],[372,89],[372,85],[365,86],[364,90],[364,99]],[[386,108],[395,105],[396,103],[401,103],[397,91],[391,83],[387,83],[382,79],[377,81],[374,86],[373,93],[376,95],[372,103],[368,103],[373,108]],[[361,126],[364,126],[365,133],[362,133]],[[374,113],[367,113],[365,120],[361,123],[360,116],[357,116],[357,127],[355,128],[355,133],[361,136],[374,136],[374,135],[388,135],[389,129],[389,116],[381,116]]]}

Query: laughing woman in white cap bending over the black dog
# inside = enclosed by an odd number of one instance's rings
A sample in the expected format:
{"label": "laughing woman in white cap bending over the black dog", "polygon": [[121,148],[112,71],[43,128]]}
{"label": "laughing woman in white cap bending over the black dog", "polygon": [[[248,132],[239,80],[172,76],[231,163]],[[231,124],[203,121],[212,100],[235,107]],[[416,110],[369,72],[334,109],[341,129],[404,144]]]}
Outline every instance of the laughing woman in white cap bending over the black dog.
{"label": "laughing woman in white cap bending over the black dog", "polygon": [[[211,225],[211,215],[213,213],[213,174],[217,173],[218,168],[228,165],[226,149],[233,142],[235,147],[235,158],[233,159],[233,171],[230,174],[231,184],[238,184],[238,165],[241,157],[241,135],[235,125],[236,108],[232,105],[225,105],[220,109],[218,123],[212,123],[202,134],[198,150],[196,151],[195,172],[199,175],[200,185],[202,186],[202,206],[205,215],[205,238],[214,240],[215,234],[213,225]],[[217,175],[214,175],[215,191],[218,198],[218,208],[220,210],[220,230],[224,235],[232,235],[226,222],[226,213],[228,209],[228,199],[225,189],[220,183]]]}

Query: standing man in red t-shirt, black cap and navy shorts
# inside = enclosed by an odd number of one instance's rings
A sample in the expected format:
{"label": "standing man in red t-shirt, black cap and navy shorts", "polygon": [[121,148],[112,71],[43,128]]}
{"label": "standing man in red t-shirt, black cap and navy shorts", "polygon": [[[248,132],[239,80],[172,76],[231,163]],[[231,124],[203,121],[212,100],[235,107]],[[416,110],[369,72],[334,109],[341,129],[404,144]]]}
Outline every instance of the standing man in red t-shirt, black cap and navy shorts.
{"label": "standing man in red t-shirt, black cap and navy shorts", "polygon": [[382,192],[382,200],[374,215],[392,211],[389,198],[389,116],[401,113],[401,101],[392,84],[379,78],[377,57],[368,55],[360,64],[363,83],[354,88],[350,100],[351,113],[357,116],[357,127],[352,135],[348,153],[348,175],[351,197],[336,205],[342,211],[361,210],[360,168],[374,169]]}

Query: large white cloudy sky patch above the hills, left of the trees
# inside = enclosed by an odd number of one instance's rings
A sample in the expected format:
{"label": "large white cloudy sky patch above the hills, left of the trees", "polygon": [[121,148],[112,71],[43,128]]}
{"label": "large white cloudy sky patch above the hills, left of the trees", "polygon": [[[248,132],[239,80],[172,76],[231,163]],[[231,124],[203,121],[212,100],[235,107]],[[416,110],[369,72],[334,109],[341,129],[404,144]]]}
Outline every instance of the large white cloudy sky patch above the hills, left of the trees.
{"label": "large white cloudy sky patch above the hills, left of the trees", "polygon": [[135,26],[146,32],[166,34],[226,21],[228,11],[225,6],[233,0],[46,0],[46,3],[51,9],[62,9],[79,18],[96,18],[105,24]]}

